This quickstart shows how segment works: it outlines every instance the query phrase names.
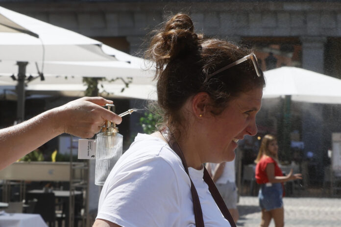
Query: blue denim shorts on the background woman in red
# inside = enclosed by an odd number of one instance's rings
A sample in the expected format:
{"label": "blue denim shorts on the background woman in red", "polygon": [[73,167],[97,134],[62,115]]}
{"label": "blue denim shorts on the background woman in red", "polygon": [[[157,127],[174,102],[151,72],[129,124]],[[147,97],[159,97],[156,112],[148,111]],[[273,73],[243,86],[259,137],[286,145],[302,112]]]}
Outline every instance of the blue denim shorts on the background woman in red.
{"label": "blue denim shorts on the background woman in red", "polygon": [[259,206],[266,211],[281,208],[283,206],[283,188],[281,183],[273,183],[271,186],[262,184],[259,189]]}

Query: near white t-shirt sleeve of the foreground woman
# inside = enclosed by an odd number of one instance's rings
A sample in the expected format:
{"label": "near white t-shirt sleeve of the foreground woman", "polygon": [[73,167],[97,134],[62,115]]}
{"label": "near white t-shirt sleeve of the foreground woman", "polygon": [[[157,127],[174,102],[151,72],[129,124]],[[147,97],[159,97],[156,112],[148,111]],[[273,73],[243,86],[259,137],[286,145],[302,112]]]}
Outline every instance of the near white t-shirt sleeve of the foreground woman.
{"label": "near white t-shirt sleeve of the foreground woman", "polygon": [[122,227],[174,226],[180,213],[178,182],[162,157],[145,157],[111,173],[97,219]]}

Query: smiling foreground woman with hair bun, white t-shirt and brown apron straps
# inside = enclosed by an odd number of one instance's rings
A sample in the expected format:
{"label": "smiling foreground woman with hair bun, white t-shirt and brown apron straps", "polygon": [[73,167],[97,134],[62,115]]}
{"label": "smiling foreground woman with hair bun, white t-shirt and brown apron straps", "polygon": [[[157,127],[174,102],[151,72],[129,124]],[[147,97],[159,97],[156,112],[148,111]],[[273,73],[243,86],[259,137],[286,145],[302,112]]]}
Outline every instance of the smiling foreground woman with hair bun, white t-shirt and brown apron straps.
{"label": "smiling foreground woman with hair bun, white t-shirt and brown apron straps", "polygon": [[238,140],[257,133],[265,80],[255,55],[196,34],[179,13],[146,58],[156,63],[163,122],[138,134],[112,169],[94,227],[234,227],[203,164],[233,160]]}

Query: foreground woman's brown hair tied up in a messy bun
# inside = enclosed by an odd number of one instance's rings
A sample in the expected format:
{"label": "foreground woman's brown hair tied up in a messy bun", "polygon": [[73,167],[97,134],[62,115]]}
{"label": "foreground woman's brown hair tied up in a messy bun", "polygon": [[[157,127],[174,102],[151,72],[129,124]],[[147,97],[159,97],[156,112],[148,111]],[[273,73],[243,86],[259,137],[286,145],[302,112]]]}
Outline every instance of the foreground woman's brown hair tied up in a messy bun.
{"label": "foreground woman's brown hair tied up in a messy bun", "polygon": [[213,114],[219,114],[241,92],[264,87],[263,73],[256,76],[250,60],[219,73],[220,78],[208,78],[250,52],[224,40],[204,39],[194,32],[191,18],[183,13],[156,30],[146,58],[156,63],[158,104],[170,130],[185,126],[181,107],[199,92],[210,95],[215,107]]}

